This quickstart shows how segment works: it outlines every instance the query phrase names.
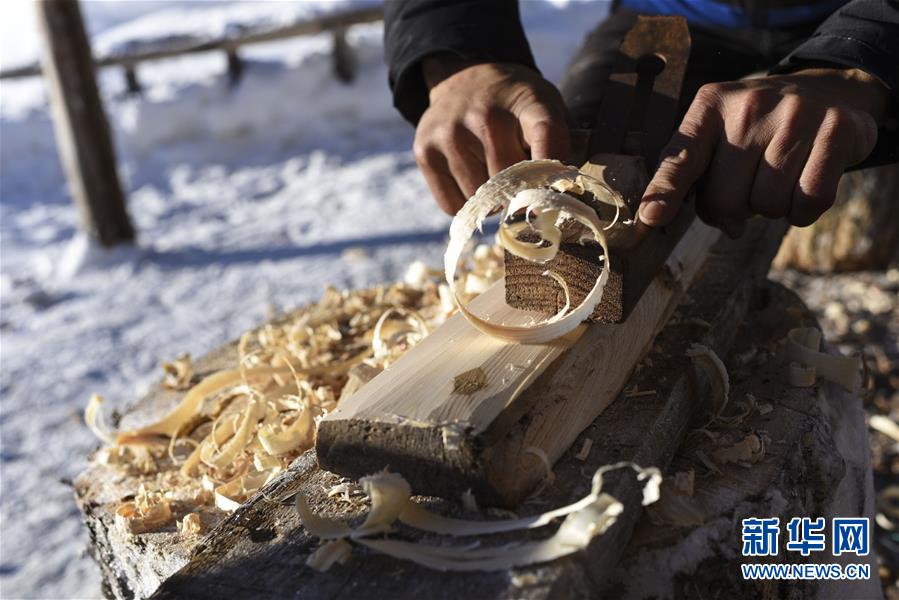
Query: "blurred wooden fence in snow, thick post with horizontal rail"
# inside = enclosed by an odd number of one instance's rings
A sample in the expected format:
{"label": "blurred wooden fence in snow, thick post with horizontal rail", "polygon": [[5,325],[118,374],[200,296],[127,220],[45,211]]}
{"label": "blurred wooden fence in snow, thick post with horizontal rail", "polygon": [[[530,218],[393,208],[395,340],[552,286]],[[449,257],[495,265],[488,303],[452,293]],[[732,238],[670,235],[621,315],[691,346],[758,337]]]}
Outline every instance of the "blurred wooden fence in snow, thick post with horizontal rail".
{"label": "blurred wooden fence in snow, thick post with horizontal rail", "polygon": [[241,46],[330,32],[334,38],[334,72],[349,81],[355,61],[346,41],[351,25],[383,18],[380,7],[354,9],[280,27],[245,27],[215,38],[171,36],[139,40],[117,53],[94,57],[78,0],[34,3],[43,53],[40,64],[0,72],[0,79],[44,75],[56,145],[69,191],[82,226],[104,246],[134,239],[116,169],[115,149],[97,89],[97,68],[121,67],[129,91],[140,92],[137,65],[199,52],[225,52],[228,73],[237,83],[243,71]]}

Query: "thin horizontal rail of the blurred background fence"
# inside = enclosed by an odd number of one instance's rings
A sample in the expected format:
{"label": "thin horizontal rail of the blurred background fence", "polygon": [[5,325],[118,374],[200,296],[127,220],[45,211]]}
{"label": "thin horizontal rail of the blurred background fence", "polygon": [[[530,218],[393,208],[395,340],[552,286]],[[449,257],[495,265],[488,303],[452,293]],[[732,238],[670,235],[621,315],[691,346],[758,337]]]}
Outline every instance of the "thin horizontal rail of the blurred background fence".
{"label": "thin horizontal rail of the blurred background fence", "polygon": [[[240,46],[259,44],[289,39],[301,35],[313,35],[332,31],[351,25],[372,23],[384,18],[381,7],[362,8],[326,15],[317,19],[309,19],[284,27],[246,29],[237,35],[226,34],[221,37],[206,39],[194,36],[182,36],[176,39],[150,40],[136,42],[136,50],[120,54],[103,56],[95,61],[96,67],[126,66],[133,67],[142,62],[174,58],[185,54],[210,52],[215,50],[235,50]],[[14,79],[40,75],[41,66],[26,65],[0,72],[0,79]]]}

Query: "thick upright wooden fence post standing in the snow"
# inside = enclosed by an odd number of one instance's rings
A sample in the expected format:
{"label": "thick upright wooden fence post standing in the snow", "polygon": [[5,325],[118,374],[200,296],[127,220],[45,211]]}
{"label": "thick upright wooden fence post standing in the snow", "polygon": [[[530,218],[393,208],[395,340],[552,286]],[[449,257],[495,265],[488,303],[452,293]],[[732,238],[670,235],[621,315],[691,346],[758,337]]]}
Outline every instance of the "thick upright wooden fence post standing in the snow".
{"label": "thick upright wooden fence post standing in the snow", "polygon": [[104,246],[131,241],[134,228],[78,0],[41,0],[34,6],[56,146],[82,225]]}

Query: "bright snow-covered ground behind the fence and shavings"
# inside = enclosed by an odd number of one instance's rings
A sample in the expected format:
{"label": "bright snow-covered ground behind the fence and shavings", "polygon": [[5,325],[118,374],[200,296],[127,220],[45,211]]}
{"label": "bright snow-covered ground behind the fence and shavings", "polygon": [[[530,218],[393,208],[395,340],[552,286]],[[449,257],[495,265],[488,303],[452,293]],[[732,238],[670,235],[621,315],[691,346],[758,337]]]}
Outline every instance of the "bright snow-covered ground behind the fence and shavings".
{"label": "bright snow-covered ground behind the fence and shavings", "polygon": [[[340,4],[85,0],[83,10],[105,50]],[[0,3],[3,67],[37,55],[31,10],[27,0]],[[606,10],[522,2],[550,79]],[[42,83],[2,83],[0,596],[100,594],[65,483],[96,445],[80,417],[92,392],[123,408],[158,378],[161,360],[202,355],[326,283],[365,286],[396,279],[413,259],[439,263],[449,221],[415,168],[412,128],[391,107],[381,33],[380,24],[351,30],[359,71],[349,86],[331,74],[326,36],[247,48],[235,89],[219,54],[141,66],[141,98],[104,71],[139,232],[136,247],[112,252],[78,233]]]}

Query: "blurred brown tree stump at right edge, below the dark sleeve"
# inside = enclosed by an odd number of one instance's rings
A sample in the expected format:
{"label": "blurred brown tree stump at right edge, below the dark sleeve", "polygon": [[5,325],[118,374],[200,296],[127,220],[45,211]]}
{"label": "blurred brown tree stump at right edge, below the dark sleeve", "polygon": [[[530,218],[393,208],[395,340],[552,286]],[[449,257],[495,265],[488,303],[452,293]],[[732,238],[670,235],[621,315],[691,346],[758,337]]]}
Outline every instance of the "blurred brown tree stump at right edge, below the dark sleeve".
{"label": "blurred brown tree stump at right edge, below the dark sleeve", "polygon": [[792,228],[774,268],[815,273],[883,269],[899,250],[899,164],[846,173],[829,211]]}

